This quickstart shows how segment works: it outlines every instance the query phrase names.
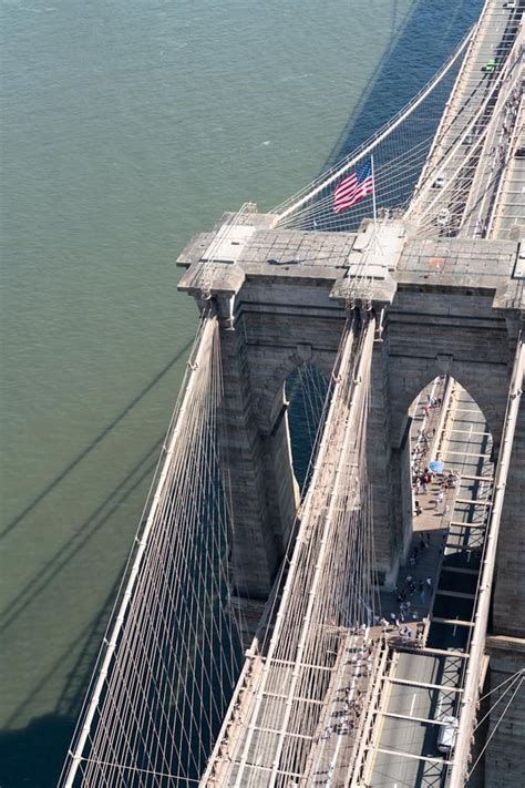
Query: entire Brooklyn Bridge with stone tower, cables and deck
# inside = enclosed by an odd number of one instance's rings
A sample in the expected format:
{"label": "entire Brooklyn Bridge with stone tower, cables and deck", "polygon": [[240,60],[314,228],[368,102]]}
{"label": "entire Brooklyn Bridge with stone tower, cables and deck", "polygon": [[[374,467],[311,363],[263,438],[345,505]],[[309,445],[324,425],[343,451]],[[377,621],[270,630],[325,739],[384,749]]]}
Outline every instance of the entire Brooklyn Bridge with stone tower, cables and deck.
{"label": "entire Brooklyn Bridge with stone tower, cables and deck", "polygon": [[61,786],[523,785],[524,9],[182,253],[199,329]]}

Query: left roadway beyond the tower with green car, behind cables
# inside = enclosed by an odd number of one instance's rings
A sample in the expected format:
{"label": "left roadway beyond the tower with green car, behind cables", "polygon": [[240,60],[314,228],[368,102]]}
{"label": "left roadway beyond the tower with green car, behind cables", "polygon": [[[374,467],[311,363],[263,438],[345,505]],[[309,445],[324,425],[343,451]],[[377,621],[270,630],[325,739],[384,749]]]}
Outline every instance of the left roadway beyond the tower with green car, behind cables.
{"label": "left roadway beyond the tower with green car, behind cables", "polygon": [[[441,121],[434,146],[420,178],[421,188],[415,192],[412,217],[421,222],[420,233],[429,232],[432,227],[434,232],[437,229],[443,234],[456,229],[461,223],[472,185],[474,186],[471,193],[473,226],[474,228],[485,227],[486,213],[482,211],[480,217],[473,206],[478,204],[480,197],[485,194],[484,184],[486,185],[495,163],[492,152],[495,143],[491,141],[486,147],[488,171],[485,172],[485,167],[482,166],[482,174],[477,172],[476,165],[485,146],[477,143],[493,116],[497,95],[505,92],[508,80],[503,81],[503,91],[500,85],[495,90],[494,99],[486,104],[485,109],[482,108],[487,102],[494,86],[497,85],[500,72],[516,39],[522,35],[521,20],[525,0],[518,0],[513,6],[505,0],[488,0],[484,8],[477,34],[467,51],[459,80]],[[496,70],[484,71],[484,66],[491,60],[496,62]],[[521,66],[513,70],[512,79],[516,76],[518,68]],[[496,117],[493,133],[497,139],[497,145],[504,142],[498,139],[502,127],[503,119]],[[465,133],[467,130],[469,133]],[[471,157],[470,161],[467,161],[469,157]],[[473,181],[475,181],[474,184]],[[483,201],[484,208],[490,205],[491,201]],[[469,221],[467,227],[462,229],[462,235],[472,236],[472,232],[473,227]]]}

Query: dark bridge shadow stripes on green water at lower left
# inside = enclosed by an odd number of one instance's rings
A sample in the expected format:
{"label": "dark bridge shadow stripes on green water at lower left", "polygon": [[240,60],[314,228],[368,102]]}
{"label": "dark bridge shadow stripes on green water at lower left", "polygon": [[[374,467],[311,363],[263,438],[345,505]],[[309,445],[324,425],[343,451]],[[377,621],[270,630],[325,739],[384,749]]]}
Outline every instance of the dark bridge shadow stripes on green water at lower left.
{"label": "dark bridge shadow stripes on green water at lower left", "polygon": [[[66,477],[76,469],[91,452],[107,439],[131,411],[152,393],[156,386],[171,372],[189,351],[193,339],[155,375],[115,418],[99,432],[89,444],[14,518],[2,532],[11,532],[52,492],[60,491]],[[68,538],[55,553],[19,590],[13,602],[0,612],[0,632],[7,638],[11,626],[31,605],[39,603],[45,589],[59,581],[72,562],[90,550],[95,535],[111,523],[115,512],[126,503],[148,479],[157,464],[164,433],[137,458],[119,483],[111,489],[89,516],[74,524]],[[125,546],[127,553],[128,545]],[[65,754],[71,741],[73,728],[85,697],[102,638],[110,620],[111,610],[116,598],[123,566],[117,572],[117,580],[111,589],[104,604],[92,621],[68,643],[60,657],[27,687],[24,696],[19,698],[17,708],[6,722],[0,733],[0,785],[2,788],[49,788],[56,785]],[[38,649],[38,644],[35,644]],[[35,658],[38,658],[38,651]],[[72,664],[71,669],[69,666]],[[16,727],[17,719],[25,715],[34,698],[47,692],[48,685],[65,677],[64,687],[56,699],[52,713],[33,718],[25,728]]]}

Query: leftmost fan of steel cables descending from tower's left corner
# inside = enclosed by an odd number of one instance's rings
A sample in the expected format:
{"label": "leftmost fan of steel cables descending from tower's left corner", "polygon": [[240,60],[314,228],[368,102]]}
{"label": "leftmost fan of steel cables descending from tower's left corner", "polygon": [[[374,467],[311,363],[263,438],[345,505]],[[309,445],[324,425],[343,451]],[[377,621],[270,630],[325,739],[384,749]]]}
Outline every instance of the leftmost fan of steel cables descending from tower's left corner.
{"label": "leftmost fan of steel cables descending from tower's left corner", "polygon": [[222,390],[218,320],[208,314],[63,786],[173,788],[204,769],[240,669]]}

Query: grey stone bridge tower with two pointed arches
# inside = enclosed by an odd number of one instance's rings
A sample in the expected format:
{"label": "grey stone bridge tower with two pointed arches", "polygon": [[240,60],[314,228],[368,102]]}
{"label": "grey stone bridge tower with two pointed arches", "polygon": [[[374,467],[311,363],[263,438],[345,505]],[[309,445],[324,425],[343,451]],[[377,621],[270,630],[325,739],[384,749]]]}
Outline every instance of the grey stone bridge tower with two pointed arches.
{"label": "grey stone bridge tower with two pointed arches", "polygon": [[[260,603],[254,615],[268,598],[299,503],[284,385],[305,361],[330,376],[352,282],[366,269],[373,282],[366,300],[380,318],[368,443],[378,570],[387,584],[411,533],[411,402],[437,375],[452,375],[483,410],[497,452],[525,309],[525,263],[515,242],[411,239],[393,219],[373,241],[371,223],[336,234],[274,229],[274,219],[253,212],[227,233],[219,225],[178,260],[187,268],[179,288],[197,300],[207,290],[223,318],[233,579],[239,604]],[[517,636],[525,630],[524,419],[522,408],[494,596],[495,630]]]}

